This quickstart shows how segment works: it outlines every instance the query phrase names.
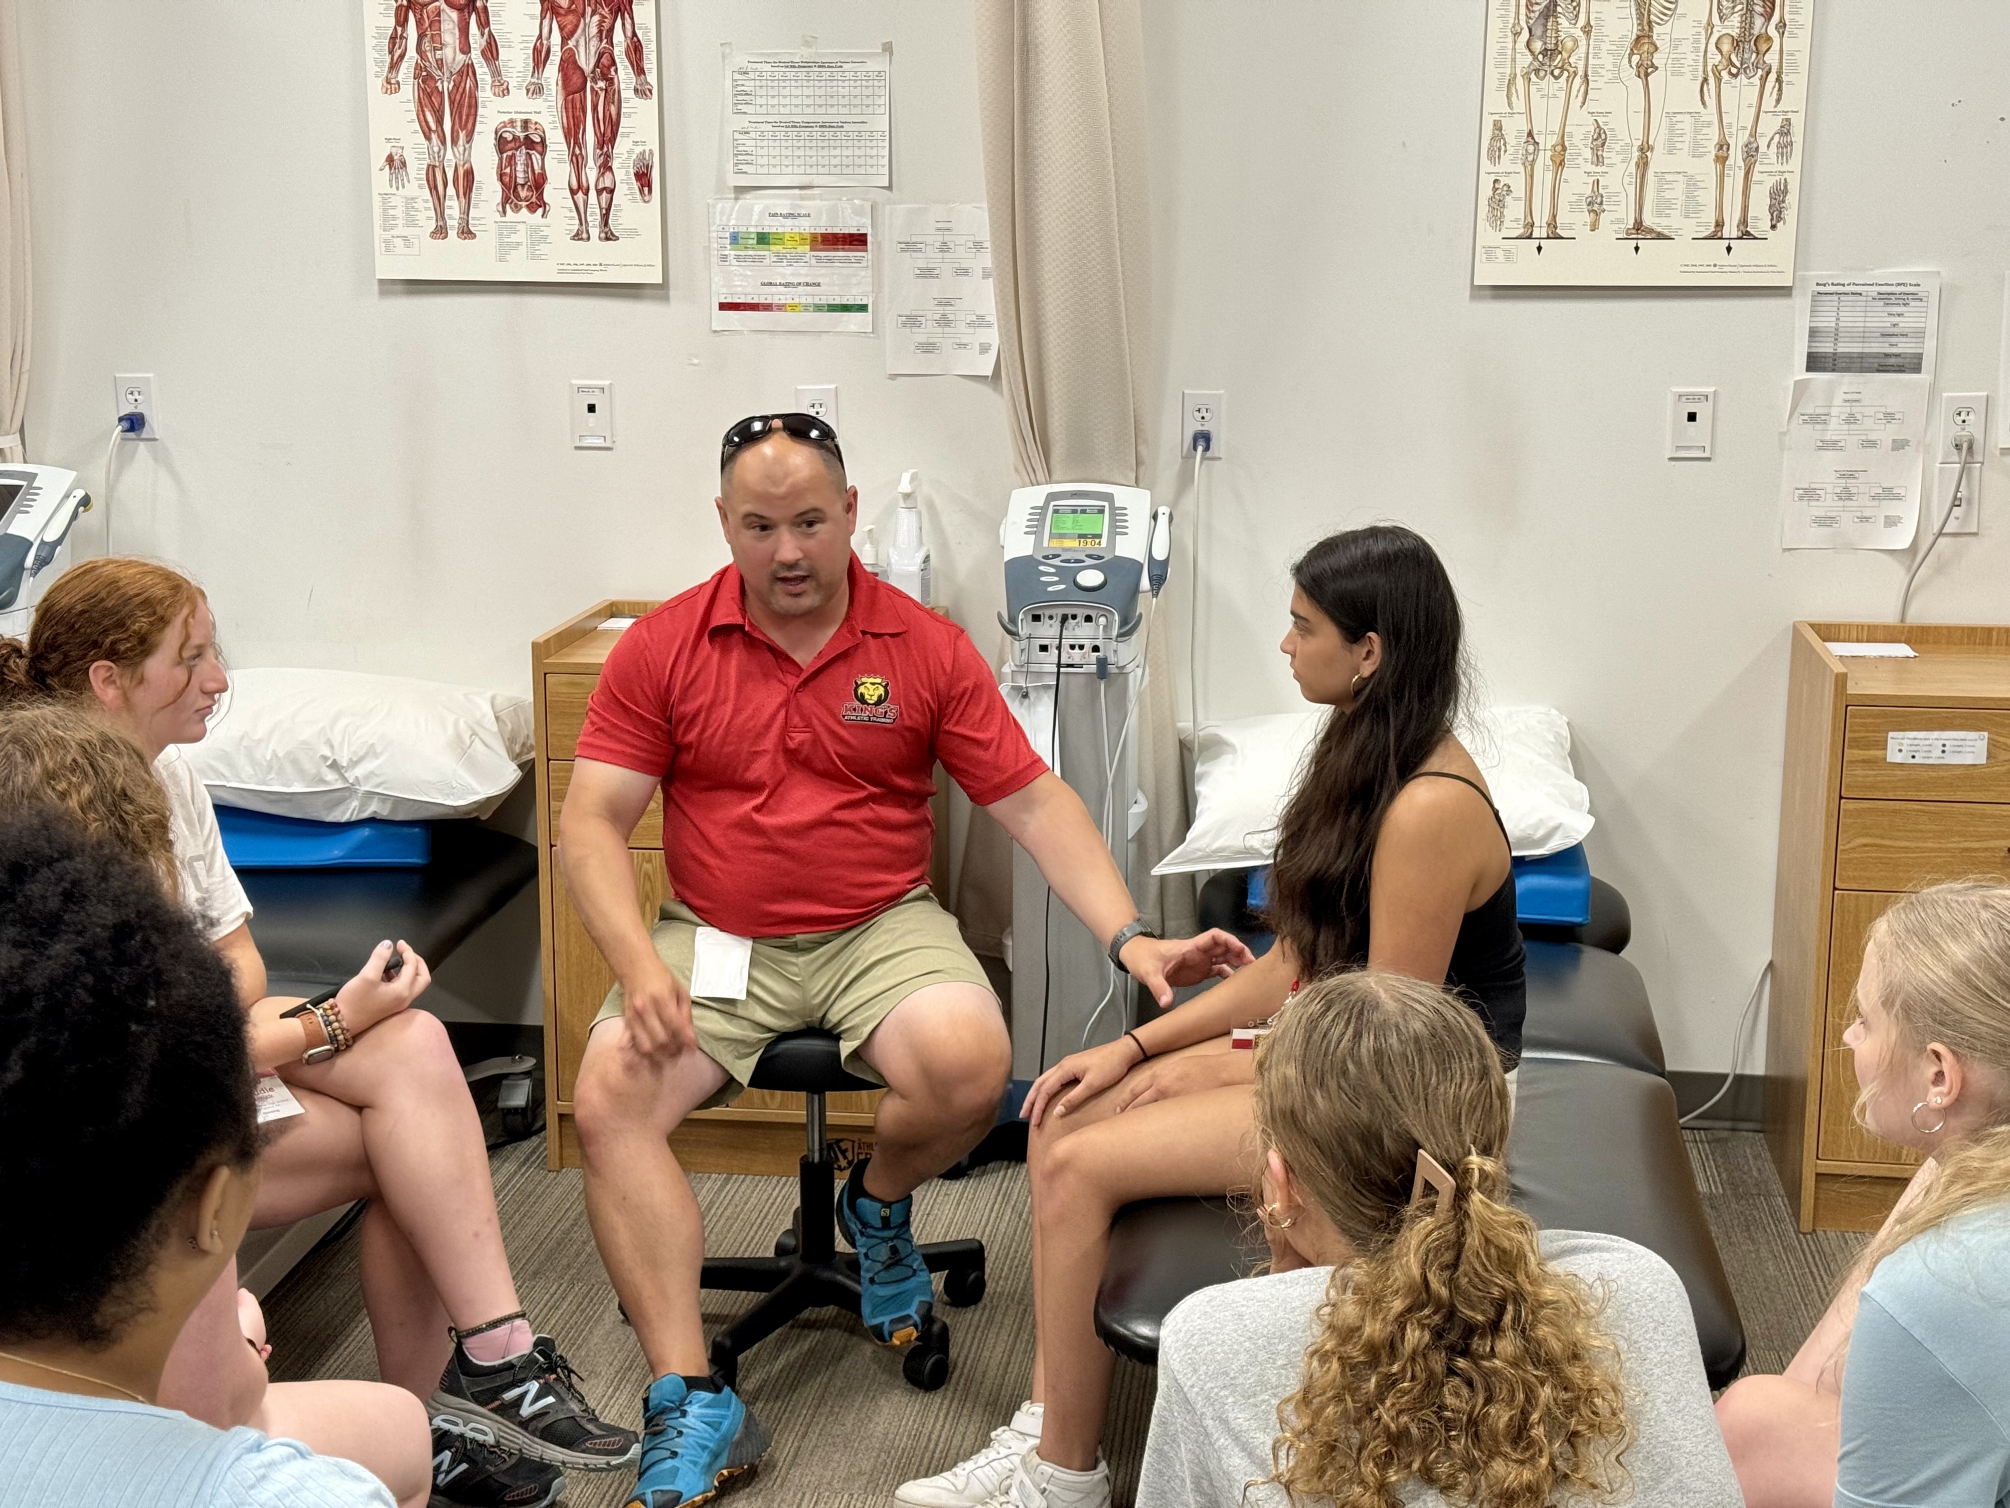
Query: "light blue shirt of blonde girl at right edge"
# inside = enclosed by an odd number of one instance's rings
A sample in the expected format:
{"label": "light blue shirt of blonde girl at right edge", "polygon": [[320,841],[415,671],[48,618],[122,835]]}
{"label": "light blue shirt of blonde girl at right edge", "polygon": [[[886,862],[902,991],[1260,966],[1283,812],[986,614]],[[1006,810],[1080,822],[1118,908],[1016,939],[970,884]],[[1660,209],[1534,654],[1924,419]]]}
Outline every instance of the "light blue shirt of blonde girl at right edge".
{"label": "light blue shirt of blonde girl at right edge", "polygon": [[1835,1504],[2010,1504],[2010,1204],[1907,1241],[1863,1285]]}

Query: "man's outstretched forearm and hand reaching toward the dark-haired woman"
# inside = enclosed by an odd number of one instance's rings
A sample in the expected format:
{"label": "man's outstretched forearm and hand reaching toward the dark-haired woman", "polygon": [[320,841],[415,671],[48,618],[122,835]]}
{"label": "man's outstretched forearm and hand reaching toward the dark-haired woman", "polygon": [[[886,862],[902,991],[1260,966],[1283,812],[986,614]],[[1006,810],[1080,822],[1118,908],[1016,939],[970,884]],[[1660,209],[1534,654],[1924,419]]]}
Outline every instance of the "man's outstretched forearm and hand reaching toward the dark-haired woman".
{"label": "man's outstretched forearm and hand reaching toward the dark-haired woman", "polygon": [[[1136,919],[1138,905],[1103,834],[1095,830],[1095,818],[1061,776],[1049,770],[985,810],[1033,857],[1047,885],[1097,943],[1108,947]],[[1188,939],[1134,937],[1122,957],[1132,977],[1164,1007],[1172,1005],[1174,985],[1200,983],[1208,975],[1226,979],[1250,961],[1250,951],[1212,929]]]}

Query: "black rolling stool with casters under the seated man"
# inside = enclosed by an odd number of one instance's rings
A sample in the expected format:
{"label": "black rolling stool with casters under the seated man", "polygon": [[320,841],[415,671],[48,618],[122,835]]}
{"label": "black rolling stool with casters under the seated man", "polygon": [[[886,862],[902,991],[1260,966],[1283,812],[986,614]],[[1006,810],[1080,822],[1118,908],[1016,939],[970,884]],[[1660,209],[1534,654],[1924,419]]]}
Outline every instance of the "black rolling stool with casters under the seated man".
{"label": "black rolling stool with casters under the seated man", "polygon": [[[880,1086],[846,1074],[838,1038],[812,1027],[770,1042],[754,1066],[750,1088],[804,1096],[808,1150],[796,1216],[776,1237],[774,1257],[708,1257],[697,1279],[701,1289],[768,1295],[712,1341],[712,1371],[728,1387],[736,1385],[740,1357],[806,1309],[858,1313],[858,1259],[838,1255],[836,1164],[824,1148],[824,1096]],[[949,1303],[965,1307],[985,1297],[985,1243],[931,1241],[919,1251],[931,1273],[947,1273],[943,1297]],[[900,1371],[925,1393],[949,1381],[949,1325],[931,1317],[902,1357]]]}

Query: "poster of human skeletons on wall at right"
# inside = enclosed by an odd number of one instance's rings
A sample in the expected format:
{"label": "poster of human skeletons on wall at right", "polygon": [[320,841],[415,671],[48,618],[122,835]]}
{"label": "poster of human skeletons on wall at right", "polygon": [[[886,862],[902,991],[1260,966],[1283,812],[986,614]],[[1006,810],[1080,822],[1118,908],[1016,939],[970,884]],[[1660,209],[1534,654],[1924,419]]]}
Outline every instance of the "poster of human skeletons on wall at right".
{"label": "poster of human skeletons on wall at right", "polygon": [[1787,288],[1815,0],[1487,0],[1473,281]]}

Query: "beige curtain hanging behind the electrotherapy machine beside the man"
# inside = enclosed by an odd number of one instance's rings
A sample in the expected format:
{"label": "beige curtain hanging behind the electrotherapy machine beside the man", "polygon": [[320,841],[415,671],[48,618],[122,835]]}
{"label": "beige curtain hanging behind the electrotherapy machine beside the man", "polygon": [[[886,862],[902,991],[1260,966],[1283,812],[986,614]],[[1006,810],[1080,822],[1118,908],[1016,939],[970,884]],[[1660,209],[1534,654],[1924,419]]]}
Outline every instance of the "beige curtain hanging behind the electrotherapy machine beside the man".
{"label": "beige curtain hanging behind the electrotherapy machine beside the man", "polygon": [[[999,370],[1025,487],[1148,477],[1150,205],[1140,0],[977,0],[977,95],[991,201]],[[1154,627],[1138,770],[1140,875],[1186,832],[1166,623]],[[973,812],[957,911],[997,951],[1011,844]],[[1164,931],[1194,927],[1186,881],[1138,881]]]}

